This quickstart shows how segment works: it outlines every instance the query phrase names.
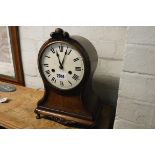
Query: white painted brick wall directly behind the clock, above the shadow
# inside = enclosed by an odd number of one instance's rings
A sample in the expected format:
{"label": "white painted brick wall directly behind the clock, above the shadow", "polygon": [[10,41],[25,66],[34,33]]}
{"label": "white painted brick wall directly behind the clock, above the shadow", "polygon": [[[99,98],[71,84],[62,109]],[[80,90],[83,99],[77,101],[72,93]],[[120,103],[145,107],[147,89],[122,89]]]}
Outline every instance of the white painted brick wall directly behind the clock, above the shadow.
{"label": "white painted brick wall directly behind the clock, above the shadow", "polygon": [[[23,68],[25,74],[25,81],[27,87],[43,88],[43,84],[38,73],[37,55],[39,48],[47,39],[49,35],[57,27],[20,27],[20,41],[23,59]],[[95,46],[99,64],[95,72],[96,79],[104,81],[104,76],[111,78],[114,83],[118,82],[121,71],[122,57],[125,48],[126,27],[61,27],[68,31],[71,35],[81,35],[89,39]],[[109,85],[110,89],[114,88]],[[109,88],[108,88],[109,89]]]}

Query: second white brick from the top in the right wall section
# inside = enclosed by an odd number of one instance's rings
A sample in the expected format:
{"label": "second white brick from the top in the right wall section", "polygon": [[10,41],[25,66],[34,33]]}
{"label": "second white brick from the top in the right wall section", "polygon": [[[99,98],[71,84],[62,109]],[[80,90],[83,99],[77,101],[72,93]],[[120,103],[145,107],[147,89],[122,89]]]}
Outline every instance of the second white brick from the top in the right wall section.
{"label": "second white brick from the top in the right wall section", "polygon": [[155,46],[133,45],[127,46],[123,69],[155,75]]}

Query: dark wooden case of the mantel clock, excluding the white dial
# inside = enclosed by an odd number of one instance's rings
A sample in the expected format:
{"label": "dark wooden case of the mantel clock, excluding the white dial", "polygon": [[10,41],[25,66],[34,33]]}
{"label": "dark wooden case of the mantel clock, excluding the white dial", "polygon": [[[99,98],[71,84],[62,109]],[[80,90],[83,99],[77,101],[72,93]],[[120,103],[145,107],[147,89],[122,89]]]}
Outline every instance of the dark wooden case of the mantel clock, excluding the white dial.
{"label": "dark wooden case of the mantel clock, excluding the white dial", "polygon": [[[84,77],[73,89],[60,90],[52,86],[42,72],[41,57],[44,50],[55,42],[70,44],[83,57]],[[48,118],[68,126],[95,127],[102,109],[102,104],[92,89],[92,78],[97,62],[97,52],[89,40],[81,36],[69,36],[67,32],[59,28],[51,33],[51,38],[42,45],[38,54],[38,69],[43,79],[45,92],[35,109],[36,118]]]}

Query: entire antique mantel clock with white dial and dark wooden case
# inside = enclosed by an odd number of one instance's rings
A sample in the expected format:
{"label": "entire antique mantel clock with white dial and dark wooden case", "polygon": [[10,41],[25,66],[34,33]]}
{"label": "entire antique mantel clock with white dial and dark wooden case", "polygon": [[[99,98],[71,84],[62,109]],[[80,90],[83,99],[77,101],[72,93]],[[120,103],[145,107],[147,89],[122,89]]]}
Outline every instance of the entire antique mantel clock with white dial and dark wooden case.
{"label": "entire antique mantel clock with white dial and dark wooden case", "polygon": [[38,54],[45,92],[35,109],[37,118],[94,127],[102,109],[92,89],[97,61],[97,52],[86,38],[69,36],[59,28],[51,33]]}

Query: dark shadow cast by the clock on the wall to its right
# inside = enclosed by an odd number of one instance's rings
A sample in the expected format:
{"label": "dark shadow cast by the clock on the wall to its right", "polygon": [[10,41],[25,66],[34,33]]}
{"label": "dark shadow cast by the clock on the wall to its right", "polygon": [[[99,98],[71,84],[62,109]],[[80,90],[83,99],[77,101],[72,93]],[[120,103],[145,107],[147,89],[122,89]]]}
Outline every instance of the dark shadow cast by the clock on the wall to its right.
{"label": "dark shadow cast by the clock on the wall to its right", "polygon": [[93,89],[101,98],[103,104],[106,105],[102,110],[102,117],[105,118],[104,124],[101,122],[99,128],[104,128],[106,122],[109,123],[109,128],[113,128],[116,105],[118,98],[119,78],[111,76],[94,76]]}

